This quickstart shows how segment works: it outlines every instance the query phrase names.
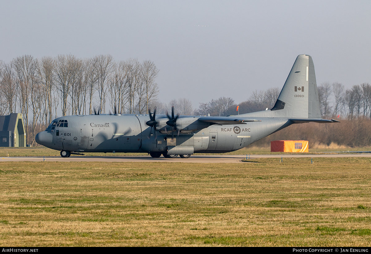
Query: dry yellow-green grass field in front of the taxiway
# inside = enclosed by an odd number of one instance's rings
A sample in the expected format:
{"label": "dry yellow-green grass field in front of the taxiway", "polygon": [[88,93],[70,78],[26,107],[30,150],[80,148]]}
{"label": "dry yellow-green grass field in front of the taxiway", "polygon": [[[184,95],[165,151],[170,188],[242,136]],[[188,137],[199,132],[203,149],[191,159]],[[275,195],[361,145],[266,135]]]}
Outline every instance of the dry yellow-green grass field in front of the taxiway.
{"label": "dry yellow-green grass field in front of the taxiway", "polygon": [[0,163],[2,246],[370,246],[370,158]]}

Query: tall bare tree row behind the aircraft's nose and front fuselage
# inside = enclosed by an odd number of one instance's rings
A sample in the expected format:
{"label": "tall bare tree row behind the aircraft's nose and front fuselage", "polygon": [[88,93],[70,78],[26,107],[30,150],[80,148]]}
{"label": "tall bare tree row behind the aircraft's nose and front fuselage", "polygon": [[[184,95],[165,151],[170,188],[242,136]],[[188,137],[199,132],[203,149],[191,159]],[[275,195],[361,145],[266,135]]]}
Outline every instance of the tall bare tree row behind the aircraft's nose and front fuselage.
{"label": "tall bare tree row behind the aircraft's nose and front fuselage", "polygon": [[150,60],[116,62],[111,55],[24,55],[0,61],[0,115],[22,113],[27,143],[33,144],[41,126],[59,110],[62,116],[94,111],[144,114],[159,92],[158,71]]}

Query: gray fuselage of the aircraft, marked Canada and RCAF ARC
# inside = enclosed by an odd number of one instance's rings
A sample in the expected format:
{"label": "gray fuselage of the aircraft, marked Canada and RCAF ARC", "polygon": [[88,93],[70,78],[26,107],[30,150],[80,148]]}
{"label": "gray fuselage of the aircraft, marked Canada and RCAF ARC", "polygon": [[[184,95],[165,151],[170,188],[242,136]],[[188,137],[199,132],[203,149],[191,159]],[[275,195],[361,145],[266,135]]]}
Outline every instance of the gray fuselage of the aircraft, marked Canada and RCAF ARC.
{"label": "gray fuselage of the aircraft, marked Canada and RCAF ARC", "polygon": [[[197,128],[199,116],[193,118]],[[166,120],[167,116],[160,115],[157,119]],[[43,146],[72,153],[226,153],[291,124],[287,118],[272,117],[233,125],[207,124],[189,133],[179,133],[165,126],[162,128],[165,133],[161,133],[148,126],[148,120],[148,115],[64,116],[53,120],[35,139]]]}

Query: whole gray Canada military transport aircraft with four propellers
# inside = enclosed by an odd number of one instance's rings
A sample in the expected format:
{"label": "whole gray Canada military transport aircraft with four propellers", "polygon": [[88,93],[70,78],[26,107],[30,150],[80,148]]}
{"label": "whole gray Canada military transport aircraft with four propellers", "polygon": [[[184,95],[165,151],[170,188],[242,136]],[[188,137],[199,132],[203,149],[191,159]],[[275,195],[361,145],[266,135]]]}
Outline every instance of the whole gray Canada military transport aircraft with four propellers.
{"label": "whole gray Canada military transport aircraft with four propellers", "polygon": [[194,153],[226,153],[254,143],[296,123],[324,120],[312,57],[299,55],[270,110],[238,116],[171,116],[95,114],[63,116],[35,137],[37,143],[60,150],[62,157],[83,153],[149,153],[153,158]]}

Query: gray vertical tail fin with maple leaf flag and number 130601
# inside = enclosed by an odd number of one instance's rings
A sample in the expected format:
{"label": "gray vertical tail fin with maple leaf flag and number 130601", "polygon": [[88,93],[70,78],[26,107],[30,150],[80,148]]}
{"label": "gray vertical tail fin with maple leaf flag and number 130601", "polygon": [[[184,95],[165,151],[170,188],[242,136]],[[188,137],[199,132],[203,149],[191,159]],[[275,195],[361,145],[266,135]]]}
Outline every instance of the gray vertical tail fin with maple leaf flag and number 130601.
{"label": "gray vertical tail fin with maple leaf flag and number 130601", "polygon": [[273,115],[280,117],[321,118],[316,74],[311,56],[299,55],[296,58],[271,111]]}

